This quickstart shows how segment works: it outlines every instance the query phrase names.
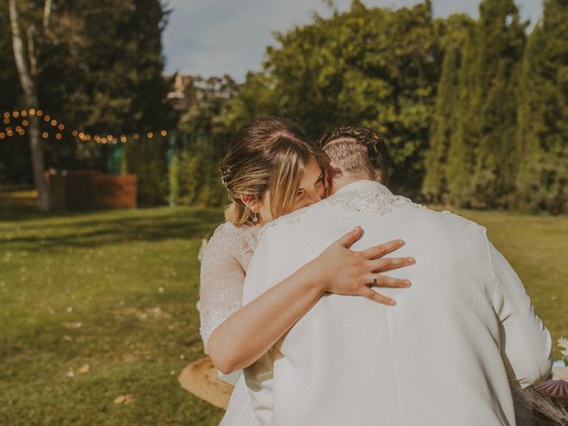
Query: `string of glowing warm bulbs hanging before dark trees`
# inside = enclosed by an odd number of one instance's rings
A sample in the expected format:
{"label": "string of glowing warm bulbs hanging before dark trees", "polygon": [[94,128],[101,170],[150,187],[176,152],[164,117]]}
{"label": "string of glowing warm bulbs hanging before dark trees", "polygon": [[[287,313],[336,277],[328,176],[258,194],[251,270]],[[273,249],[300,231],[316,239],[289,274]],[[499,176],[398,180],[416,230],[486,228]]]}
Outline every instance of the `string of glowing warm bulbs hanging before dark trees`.
{"label": "string of glowing warm bulbs hanging before dark trees", "polygon": [[[20,135],[24,135],[26,133],[26,130],[24,130],[24,127],[28,127],[29,122],[28,120],[23,119],[24,117],[28,117],[28,116],[34,116],[36,115],[37,117],[42,117],[43,116],[43,121],[47,124],[47,125],[51,125],[51,127],[53,127],[53,130],[56,131],[55,133],[55,138],[58,140],[61,140],[63,138],[63,134],[61,133],[61,131],[66,130],[67,126],[62,123],[62,122],[58,122],[55,118],[51,117],[49,114],[43,114],[43,111],[41,109],[35,109],[35,108],[29,108],[29,109],[22,109],[21,111],[12,111],[12,113],[10,112],[4,112],[2,114],[2,117],[4,117],[4,124],[10,124],[11,119],[21,119],[21,122],[19,125],[16,125],[14,130],[12,130],[12,127],[6,127],[4,129],[4,131],[0,132],[0,139],[4,139],[4,138],[9,138],[12,137],[14,135],[14,131]],[[80,130],[75,130],[75,129],[68,129],[67,131],[69,131],[71,133],[71,135],[74,138],[79,138],[81,140],[94,140],[95,142],[99,143],[99,144],[117,144],[120,140],[120,142],[122,143],[126,143],[128,141],[128,136],[123,134],[123,133],[118,133],[117,136],[114,136],[112,134],[108,134],[106,136],[99,136],[99,135],[90,135],[89,133],[85,133],[84,131],[80,131]],[[165,137],[168,135],[168,130],[162,129],[162,130],[158,130],[158,131],[146,131],[145,135],[146,138],[148,139],[152,139],[154,138],[154,136],[156,135],[160,135],[162,137]],[[138,140],[142,135],[140,135],[140,133],[134,133],[132,135],[132,138],[135,140]],[[50,137],[50,134],[48,131],[43,131],[42,133],[42,137],[44,139],[47,139]]]}

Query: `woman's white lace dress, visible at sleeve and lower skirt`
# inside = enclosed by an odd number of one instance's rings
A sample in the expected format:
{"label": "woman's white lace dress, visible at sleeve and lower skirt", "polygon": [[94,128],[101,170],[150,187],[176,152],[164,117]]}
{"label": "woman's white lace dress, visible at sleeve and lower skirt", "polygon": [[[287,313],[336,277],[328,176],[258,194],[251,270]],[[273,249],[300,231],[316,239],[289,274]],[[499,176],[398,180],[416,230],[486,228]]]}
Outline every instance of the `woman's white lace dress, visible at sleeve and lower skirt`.
{"label": "woman's white lace dress, visible at sleeve and lower skirt", "polygon": [[[202,252],[200,331],[205,353],[211,333],[242,307],[242,286],[259,233],[260,228],[255,226],[237,227],[225,222]],[[242,370],[219,377],[235,385],[219,426],[258,426]]]}

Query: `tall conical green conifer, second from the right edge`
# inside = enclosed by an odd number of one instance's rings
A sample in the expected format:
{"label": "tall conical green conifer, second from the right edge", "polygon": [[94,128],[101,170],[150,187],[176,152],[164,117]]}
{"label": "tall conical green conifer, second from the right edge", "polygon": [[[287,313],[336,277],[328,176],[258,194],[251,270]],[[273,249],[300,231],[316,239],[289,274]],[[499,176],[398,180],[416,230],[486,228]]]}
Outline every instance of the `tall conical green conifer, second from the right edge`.
{"label": "tall conical green conifer, second from the right edge", "polygon": [[517,79],[527,24],[513,0],[484,0],[479,12],[461,60],[447,180],[457,205],[508,207],[515,184]]}

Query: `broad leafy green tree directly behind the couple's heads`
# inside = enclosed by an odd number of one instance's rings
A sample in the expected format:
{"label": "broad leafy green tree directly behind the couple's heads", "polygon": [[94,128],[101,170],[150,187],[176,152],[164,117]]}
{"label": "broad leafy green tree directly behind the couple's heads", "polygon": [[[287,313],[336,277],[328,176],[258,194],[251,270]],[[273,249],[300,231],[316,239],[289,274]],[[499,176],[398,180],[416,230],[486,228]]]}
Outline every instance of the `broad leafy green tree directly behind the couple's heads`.
{"label": "broad leafy green tree directly behind the couple's heads", "polygon": [[234,116],[288,115],[312,138],[367,125],[389,142],[392,183],[415,192],[440,72],[437,30],[429,1],[391,10],[355,0],[348,12],[316,16],[276,35],[278,46],[267,50],[263,73],[248,76]]}

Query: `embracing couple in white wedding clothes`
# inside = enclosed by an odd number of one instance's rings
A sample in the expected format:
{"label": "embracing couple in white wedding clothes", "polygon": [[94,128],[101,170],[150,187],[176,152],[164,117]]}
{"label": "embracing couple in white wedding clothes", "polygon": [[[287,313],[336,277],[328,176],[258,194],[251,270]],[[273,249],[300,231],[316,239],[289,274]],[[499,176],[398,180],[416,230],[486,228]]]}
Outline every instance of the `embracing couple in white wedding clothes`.
{"label": "embracing couple in white wedding clothes", "polygon": [[205,351],[244,371],[222,425],[514,425],[509,386],[550,373],[485,228],[391,193],[387,158],[364,128],[316,145],[271,117],[234,136],[201,266]]}

